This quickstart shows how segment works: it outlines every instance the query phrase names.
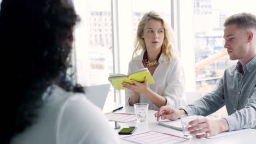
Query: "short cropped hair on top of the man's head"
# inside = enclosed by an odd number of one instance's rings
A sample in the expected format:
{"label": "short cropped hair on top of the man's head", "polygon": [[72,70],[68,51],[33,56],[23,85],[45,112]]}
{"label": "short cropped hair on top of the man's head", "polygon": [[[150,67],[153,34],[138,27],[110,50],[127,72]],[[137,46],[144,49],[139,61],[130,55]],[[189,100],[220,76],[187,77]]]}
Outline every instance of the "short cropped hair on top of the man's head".
{"label": "short cropped hair on top of the man's head", "polygon": [[236,24],[238,28],[256,29],[256,16],[251,13],[234,14],[225,20],[224,27],[232,24]]}

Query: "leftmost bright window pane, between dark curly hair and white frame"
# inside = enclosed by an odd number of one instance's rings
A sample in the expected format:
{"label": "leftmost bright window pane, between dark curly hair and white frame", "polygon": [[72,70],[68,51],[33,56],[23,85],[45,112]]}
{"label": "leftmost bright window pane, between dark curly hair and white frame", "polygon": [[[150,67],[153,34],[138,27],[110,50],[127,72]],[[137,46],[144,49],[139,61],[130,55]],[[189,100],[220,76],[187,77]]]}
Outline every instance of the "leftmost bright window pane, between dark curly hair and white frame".
{"label": "leftmost bright window pane, between dark curly hair and white frame", "polygon": [[[82,86],[108,83],[113,73],[111,1],[74,1],[74,5],[81,19],[75,29],[75,80]],[[114,102],[112,87],[107,101]]]}

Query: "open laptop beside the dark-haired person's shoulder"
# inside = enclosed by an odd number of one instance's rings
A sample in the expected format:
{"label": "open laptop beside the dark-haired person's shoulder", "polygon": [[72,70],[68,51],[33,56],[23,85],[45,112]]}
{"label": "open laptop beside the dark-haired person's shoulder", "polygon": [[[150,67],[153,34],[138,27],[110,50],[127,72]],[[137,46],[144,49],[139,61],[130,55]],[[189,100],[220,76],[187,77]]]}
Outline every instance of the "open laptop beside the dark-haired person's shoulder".
{"label": "open laptop beside the dark-haired person's shoulder", "polygon": [[84,90],[86,98],[103,110],[109,88],[110,83],[107,83],[103,85],[86,86]]}

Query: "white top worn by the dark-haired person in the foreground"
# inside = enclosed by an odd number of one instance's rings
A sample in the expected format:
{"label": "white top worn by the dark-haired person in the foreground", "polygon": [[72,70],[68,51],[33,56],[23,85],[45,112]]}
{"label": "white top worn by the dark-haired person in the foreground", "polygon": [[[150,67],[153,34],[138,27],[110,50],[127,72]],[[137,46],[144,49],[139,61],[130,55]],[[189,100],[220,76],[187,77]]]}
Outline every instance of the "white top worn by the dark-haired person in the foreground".
{"label": "white top worn by the dark-haired person in the foreground", "polygon": [[68,93],[53,86],[52,93],[44,98],[37,122],[11,143],[118,143],[118,134],[84,94]]}

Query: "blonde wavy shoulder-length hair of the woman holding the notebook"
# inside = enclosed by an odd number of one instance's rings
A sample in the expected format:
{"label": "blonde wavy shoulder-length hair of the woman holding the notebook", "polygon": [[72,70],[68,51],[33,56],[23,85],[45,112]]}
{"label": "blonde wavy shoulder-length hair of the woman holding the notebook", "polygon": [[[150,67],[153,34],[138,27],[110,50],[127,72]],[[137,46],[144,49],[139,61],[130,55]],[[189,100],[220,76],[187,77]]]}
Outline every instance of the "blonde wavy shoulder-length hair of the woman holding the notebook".
{"label": "blonde wavy shoulder-length hair of the woman holding the notebook", "polygon": [[168,27],[167,23],[158,13],[156,13],[156,11],[149,11],[148,13],[144,14],[141,21],[139,21],[137,34],[136,34],[136,41],[135,41],[135,50],[132,53],[132,58],[135,58],[136,56],[138,56],[141,50],[146,50],[146,44],[144,39],[141,38],[141,35],[143,33],[143,29],[146,23],[150,19],[158,20],[162,22],[162,25],[164,26],[164,33],[165,33],[164,41],[161,46],[162,53],[166,55],[170,61],[172,61],[173,56],[178,55],[178,52],[175,49],[176,44],[174,41],[174,32],[172,28]]}

